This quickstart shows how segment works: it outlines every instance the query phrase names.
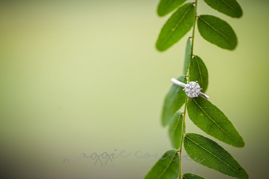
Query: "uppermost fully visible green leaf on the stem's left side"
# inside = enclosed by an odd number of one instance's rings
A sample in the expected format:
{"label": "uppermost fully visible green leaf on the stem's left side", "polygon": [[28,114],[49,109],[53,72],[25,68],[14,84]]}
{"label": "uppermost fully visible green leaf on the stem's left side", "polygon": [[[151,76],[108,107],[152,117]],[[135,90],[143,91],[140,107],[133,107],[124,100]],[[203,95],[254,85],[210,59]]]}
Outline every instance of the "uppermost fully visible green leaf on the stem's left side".
{"label": "uppermost fully visible green leaf on the stem's left side", "polygon": [[192,3],[179,7],[163,25],[156,48],[164,51],[178,42],[192,28],[193,17],[194,6]]}

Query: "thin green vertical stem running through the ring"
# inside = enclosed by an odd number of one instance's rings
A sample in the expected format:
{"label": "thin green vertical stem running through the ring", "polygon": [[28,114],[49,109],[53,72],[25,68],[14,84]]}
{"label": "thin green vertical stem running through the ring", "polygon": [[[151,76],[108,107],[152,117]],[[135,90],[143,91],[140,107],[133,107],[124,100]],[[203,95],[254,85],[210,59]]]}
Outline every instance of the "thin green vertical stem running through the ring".
{"label": "thin green vertical stem running through the ring", "polygon": [[[193,28],[192,28],[192,50],[191,50],[191,56],[192,58],[193,55],[193,42],[194,42],[194,32],[195,32],[195,24],[196,24],[196,18],[197,18],[197,0],[195,0],[195,13],[194,13],[194,22],[193,22]],[[189,73],[189,70],[188,70]],[[189,79],[189,74],[186,75],[187,80]],[[185,100],[185,106],[184,106],[184,114],[183,114],[183,125],[182,125],[182,134],[181,134],[181,144],[179,148],[179,178],[181,179],[182,173],[181,173],[181,154],[182,154],[182,145],[183,145],[183,140],[184,140],[184,135],[185,135],[185,118],[186,118],[186,109],[187,109],[187,102],[188,102],[188,97],[186,96]]]}

